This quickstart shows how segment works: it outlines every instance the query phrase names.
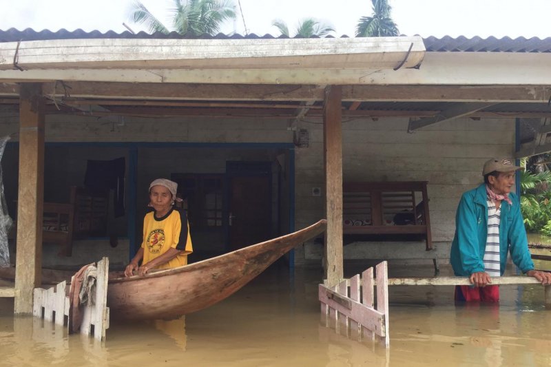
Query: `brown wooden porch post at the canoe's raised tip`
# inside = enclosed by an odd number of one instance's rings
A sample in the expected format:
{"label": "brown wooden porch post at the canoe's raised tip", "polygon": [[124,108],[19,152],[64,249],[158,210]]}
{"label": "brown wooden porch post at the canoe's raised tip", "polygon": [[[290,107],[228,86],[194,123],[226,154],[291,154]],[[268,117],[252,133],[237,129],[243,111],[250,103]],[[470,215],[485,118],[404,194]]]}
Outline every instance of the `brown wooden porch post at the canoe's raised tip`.
{"label": "brown wooden porch post at the canoe's raised tip", "polygon": [[342,87],[329,85],[325,90],[324,168],[326,183],[327,231],[324,246],[324,275],[328,286],[340,282],[342,264]]}

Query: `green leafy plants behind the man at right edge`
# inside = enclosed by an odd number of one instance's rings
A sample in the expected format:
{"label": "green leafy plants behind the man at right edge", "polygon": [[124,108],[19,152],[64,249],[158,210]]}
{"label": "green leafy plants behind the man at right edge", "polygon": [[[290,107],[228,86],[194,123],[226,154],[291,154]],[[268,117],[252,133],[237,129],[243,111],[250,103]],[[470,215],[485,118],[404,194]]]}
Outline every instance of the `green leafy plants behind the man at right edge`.
{"label": "green leafy plants behind the man at right edge", "polygon": [[551,172],[521,171],[521,212],[527,231],[551,235]]}

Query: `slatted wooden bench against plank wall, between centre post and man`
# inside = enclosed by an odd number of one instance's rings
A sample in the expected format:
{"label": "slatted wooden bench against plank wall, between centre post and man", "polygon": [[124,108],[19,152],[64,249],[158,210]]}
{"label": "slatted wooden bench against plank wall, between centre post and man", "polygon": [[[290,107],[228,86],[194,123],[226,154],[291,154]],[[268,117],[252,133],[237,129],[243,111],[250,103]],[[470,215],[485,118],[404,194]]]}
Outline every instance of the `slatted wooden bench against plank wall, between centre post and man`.
{"label": "slatted wooden bench against plank wall, between centre post and man", "polygon": [[[426,181],[346,182],[344,235],[416,235],[433,249]],[[391,237],[391,236],[389,236]]]}

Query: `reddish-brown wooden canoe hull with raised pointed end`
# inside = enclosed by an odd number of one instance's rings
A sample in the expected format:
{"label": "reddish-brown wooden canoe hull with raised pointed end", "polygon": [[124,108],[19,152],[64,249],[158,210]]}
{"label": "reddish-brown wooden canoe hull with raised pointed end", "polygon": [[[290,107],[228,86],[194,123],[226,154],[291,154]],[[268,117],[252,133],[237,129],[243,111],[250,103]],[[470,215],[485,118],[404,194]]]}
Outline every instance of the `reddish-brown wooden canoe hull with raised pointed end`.
{"label": "reddish-brown wooden canoe hull with raised pointed end", "polygon": [[325,228],[326,220],[320,220],[295,233],[216,258],[143,276],[110,279],[110,315],[115,319],[170,319],[212,306]]}

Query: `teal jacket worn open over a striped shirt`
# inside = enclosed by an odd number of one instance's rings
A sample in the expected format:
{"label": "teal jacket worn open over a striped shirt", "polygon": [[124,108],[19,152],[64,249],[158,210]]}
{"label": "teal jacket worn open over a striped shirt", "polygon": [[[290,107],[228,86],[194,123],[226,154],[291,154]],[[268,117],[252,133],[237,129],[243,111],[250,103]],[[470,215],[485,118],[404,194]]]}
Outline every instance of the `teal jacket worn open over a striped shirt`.
{"label": "teal jacket worn open over a striped shirt", "polygon": [[[510,205],[501,201],[499,222],[499,248],[501,252],[501,275],[505,271],[507,252],[512,262],[523,273],[534,269],[534,262],[528,251],[528,239],[522,219],[519,200],[514,193],[509,194]],[[461,196],[455,215],[455,236],[452,242],[450,263],[457,276],[470,276],[484,271],[484,251],[488,232],[488,202],[486,184],[467,191]]]}

